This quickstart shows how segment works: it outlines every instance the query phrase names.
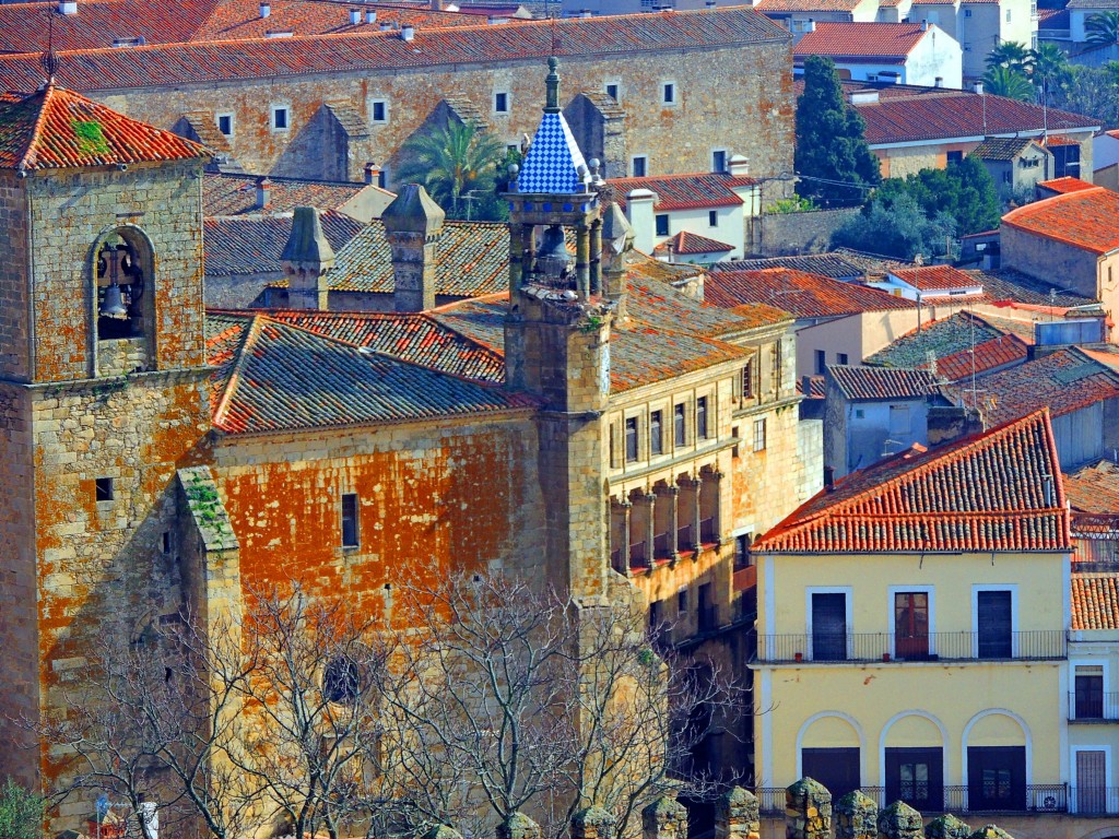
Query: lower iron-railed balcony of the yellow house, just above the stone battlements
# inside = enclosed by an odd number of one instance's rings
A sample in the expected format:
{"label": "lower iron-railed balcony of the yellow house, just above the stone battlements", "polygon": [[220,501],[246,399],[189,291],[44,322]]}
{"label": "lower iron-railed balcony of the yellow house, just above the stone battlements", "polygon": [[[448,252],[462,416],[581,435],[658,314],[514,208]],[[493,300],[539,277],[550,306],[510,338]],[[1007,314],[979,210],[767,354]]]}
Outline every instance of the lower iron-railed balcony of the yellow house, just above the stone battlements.
{"label": "lower iron-railed balcony of the yellow house, just above the stone battlements", "polygon": [[[863,786],[862,791],[869,796],[880,809],[893,803],[887,801],[886,788]],[[763,816],[784,816],[783,786],[761,786],[754,790],[759,809]],[[939,790],[924,790],[921,799],[911,801],[914,808],[925,816],[937,813],[1065,813],[1065,812],[1099,812],[1112,813],[1116,809],[1084,810],[1083,808],[1117,808],[1119,791],[1091,790],[1085,796],[1076,794],[1074,788],[1068,784],[1025,784],[1016,791],[1004,790],[1004,794],[991,798],[984,794],[978,785],[972,789],[967,785],[941,786]]]}

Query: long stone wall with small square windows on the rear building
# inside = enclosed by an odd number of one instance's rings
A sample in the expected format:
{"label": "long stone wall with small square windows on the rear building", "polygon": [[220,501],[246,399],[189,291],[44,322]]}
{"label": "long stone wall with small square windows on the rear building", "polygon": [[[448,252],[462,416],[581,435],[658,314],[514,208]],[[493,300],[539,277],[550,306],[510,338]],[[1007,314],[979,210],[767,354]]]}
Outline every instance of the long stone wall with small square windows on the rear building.
{"label": "long stone wall with small square windows on the rear building", "polygon": [[[566,105],[580,91],[602,91],[621,81],[627,155],[647,154],[649,175],[708,171],[713,149],[750,158],[758,176],[792,168],[793,91],[788,43],[726,48],[665,50],[640,56],[565,56],[561,95]],[[336,158],[387,164],[389,179],[401,144],[430,119],[442,100],[464,96],[487,115],[506,143],[529,136],[540,119],[544,62],[536,58],[501,67],[395,68],[360,74],[320,74],[137,89],[106,89],[96,98],[134,119],[173,129],[184,113],[233,113],[233,154],[246,171],[319,178],[338,171]],[[673,81],[677,103],[660,102],[660,85]],[[509,113],[492,113],[493,94],[509,94]],[[388,120],[372,123],[372,102],[386,101]],[[366,121],[367,140],[342,144],[318,119],[327,101],[349,103]],[[288,130],[270,125],[271,105],[290,107]],[[335,142],[331,140],[335,139]],[[576,138],[581,143],[584,138]],[[583,145],[584,155],[602,149]],[[614,154],[617,155],[617,154]]]}

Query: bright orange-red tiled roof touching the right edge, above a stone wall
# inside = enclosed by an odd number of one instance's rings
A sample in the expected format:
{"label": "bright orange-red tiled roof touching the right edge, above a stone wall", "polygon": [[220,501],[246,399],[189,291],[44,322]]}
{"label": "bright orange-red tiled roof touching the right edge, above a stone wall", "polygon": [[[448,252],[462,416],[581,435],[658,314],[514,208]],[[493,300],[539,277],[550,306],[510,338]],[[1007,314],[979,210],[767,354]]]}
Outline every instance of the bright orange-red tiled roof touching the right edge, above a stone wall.
{"label": "bright orange-red tiled roof touching the right edge, above a stone wall", "polygon": [[1119,192],[1093,187],[1010,210],[1003,224],[1093,254],[1119,248]]}

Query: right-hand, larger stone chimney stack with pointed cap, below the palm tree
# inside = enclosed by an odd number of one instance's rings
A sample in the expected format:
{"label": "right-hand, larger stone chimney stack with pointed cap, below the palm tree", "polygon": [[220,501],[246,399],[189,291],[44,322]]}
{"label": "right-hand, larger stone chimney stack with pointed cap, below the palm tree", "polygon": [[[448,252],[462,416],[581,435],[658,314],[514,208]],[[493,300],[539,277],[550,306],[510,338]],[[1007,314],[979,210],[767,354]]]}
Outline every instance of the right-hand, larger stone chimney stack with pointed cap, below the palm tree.
{"label": "right-hand, larger stone chimney stack with pointed cap, below the palm tree", "polygon": [[435,244],[445,218],[419,183],[401,189],[382,214],[393,252],[393,307],[397,312],[435,308]]}

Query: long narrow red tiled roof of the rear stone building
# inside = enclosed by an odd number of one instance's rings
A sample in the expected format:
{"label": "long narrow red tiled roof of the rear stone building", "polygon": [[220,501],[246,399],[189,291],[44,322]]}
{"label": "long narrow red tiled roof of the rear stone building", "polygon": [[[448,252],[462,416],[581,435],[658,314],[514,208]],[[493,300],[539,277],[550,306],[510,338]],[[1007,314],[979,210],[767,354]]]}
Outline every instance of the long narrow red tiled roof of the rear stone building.
{"label": "long narrow red tiled roof of the rear stone building", "polygon": [[[369,32],[64,51],[58,54],[57,77],[75,89],[111,91],[478,62],[499,65],[552,55],[633,55],[788,39],[789,34],[763,15],[739,7],[516,20],[453,29],[420,27],[411,41],[398,32]],[[0,57],[0,87],[26,89],[37,85],[41,76],[38,55]]]}

